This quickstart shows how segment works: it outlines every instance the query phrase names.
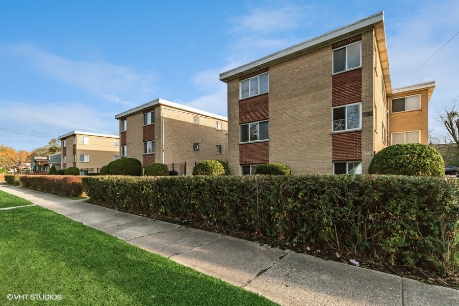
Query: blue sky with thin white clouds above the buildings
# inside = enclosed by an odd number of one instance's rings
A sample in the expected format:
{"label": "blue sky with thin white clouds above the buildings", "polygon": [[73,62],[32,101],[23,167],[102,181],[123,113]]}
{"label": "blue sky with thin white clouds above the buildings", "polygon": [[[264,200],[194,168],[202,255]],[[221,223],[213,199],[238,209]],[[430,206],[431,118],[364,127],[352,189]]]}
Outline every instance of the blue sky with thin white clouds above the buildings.
{"label": "blue sky with thin white clouds above the buildings", "polygon": [[[458,1],[0,2],[0,143],[31,150],[158,97],[226,116],[219,73],[384,10],[392,87],[459,105]],[[416,71],[415,71],[416,70]],[[30,134],[14,134],[5,132]],[[40,133],[40,134],[39,134]]]}

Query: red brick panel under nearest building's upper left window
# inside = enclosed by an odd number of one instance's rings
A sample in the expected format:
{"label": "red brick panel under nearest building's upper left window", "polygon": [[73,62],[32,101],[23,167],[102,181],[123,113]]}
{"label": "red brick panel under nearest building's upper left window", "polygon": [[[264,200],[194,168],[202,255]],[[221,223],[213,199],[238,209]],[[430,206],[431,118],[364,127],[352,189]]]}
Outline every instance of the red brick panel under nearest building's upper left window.
{"label": "red brick panel under nearest building's upper left window", "polygon": [[268,119],[268,93],[239,101],[239,124]]}

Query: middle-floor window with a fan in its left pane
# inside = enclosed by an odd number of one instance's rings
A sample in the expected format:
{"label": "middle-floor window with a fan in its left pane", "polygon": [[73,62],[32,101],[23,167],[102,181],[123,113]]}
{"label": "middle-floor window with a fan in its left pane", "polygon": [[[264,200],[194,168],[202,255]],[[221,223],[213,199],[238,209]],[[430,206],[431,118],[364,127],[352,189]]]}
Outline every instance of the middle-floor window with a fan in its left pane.
{"label": "middle-floor window with a fan in its left pane", "polygon": [[362,128],[361,104],[333,108],[333,132],[358,130]]}

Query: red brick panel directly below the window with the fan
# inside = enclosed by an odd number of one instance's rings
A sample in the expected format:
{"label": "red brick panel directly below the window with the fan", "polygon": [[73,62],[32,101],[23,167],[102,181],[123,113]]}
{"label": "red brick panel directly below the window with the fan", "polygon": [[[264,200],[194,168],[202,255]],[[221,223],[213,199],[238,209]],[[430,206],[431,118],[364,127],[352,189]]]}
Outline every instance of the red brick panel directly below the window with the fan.
{"label": "red brick panel directly below the window with the fan", "polygon": [[333,134],[331,148],[333,161],[362,160],[362,131]]}

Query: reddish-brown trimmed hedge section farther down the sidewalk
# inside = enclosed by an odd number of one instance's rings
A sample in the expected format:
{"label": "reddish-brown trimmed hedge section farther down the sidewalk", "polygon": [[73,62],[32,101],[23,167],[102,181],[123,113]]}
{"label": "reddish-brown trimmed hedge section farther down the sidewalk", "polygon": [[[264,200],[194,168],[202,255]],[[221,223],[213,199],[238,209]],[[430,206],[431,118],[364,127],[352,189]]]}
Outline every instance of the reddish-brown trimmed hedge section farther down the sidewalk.
{"label": "reddish-brown trimmed hedge section farther down the sidewalk", "polygon": [[61,196],[81,196],[81,176],[74,175],[21,175],[22,187]]}

